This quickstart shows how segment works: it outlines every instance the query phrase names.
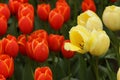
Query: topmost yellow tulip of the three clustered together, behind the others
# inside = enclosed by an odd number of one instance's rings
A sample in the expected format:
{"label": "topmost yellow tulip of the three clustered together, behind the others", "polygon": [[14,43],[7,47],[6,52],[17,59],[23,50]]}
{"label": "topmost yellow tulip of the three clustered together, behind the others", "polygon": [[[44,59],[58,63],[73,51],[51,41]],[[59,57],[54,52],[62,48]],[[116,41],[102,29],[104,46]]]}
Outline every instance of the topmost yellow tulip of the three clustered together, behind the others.
{"label": "topmost yellow tulip of the three clustered together, behind the others", "polygon": [[103,24],[101,19],[97,16],[97,14],[91,10],[87,10],[83,13],[81,13],[77,17],[77,24],[85,26],[88,30],[92,31],[94,29],[96,30],[102,30]]}

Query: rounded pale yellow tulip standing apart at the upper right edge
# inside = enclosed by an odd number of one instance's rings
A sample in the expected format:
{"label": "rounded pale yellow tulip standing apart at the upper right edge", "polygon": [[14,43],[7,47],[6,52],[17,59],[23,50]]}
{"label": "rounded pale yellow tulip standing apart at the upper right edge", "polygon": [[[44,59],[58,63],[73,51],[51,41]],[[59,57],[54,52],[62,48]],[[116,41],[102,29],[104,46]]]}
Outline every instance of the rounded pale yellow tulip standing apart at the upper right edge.
{"label": "rounded pale yellow tulip standing apart at the upper right edge", "polygon": [[115,5],[106,7],[102,19],[105,26],[110,30],[120,30],[120,7]]}

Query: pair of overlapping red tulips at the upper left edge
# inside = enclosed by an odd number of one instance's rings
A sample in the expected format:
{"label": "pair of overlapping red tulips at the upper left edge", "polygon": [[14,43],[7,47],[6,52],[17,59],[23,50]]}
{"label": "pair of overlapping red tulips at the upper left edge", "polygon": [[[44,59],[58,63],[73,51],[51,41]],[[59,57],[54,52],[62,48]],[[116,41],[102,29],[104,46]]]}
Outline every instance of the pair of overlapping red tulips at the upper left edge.
{"label": "pair of overlapping red tulips at the upper left edge", "polygon": [[10,17],[10,10],[7,4],[0,3],[0,36],[7,31],[7,21]]}

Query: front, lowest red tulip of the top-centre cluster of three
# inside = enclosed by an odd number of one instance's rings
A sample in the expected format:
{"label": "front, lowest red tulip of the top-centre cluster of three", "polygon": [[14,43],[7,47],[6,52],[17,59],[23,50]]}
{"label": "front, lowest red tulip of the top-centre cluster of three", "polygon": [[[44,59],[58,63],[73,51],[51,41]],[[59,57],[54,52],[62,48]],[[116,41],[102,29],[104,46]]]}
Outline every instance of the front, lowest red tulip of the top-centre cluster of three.
{"label": "front, lowest red tulip of the top-centre cluster of three", "polygon": [[64,23],[64,17],[57,8],[51,10],[49,13],[49,23],[54,30],[59,30],[62,27]]}

